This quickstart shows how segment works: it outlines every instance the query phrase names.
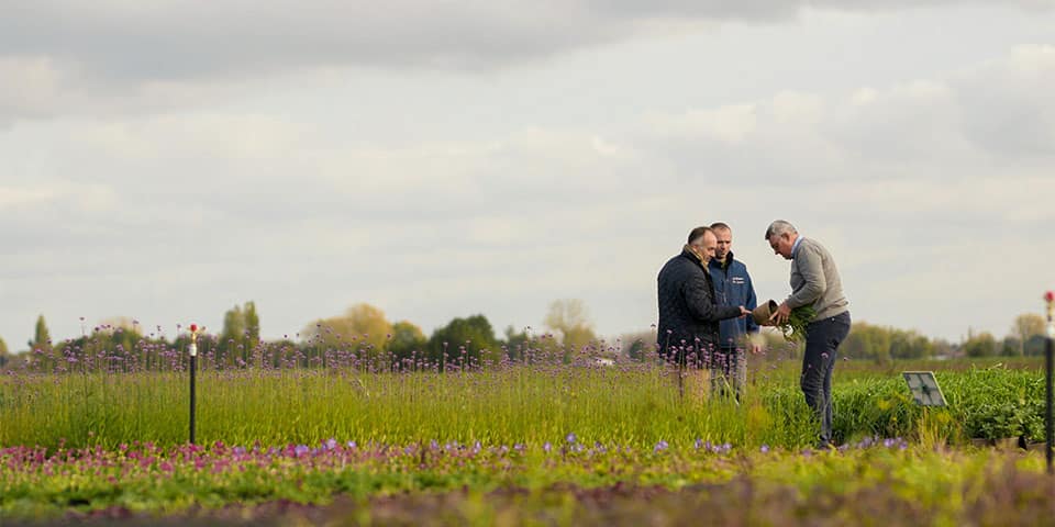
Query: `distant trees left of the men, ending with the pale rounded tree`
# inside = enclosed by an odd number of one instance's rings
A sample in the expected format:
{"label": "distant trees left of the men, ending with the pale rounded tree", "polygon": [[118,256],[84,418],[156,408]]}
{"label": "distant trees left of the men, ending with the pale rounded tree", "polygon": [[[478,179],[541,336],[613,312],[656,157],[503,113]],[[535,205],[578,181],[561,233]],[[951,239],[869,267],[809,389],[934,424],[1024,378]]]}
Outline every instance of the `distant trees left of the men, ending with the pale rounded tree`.
{"label": "distant trees left of the men, ending with the pale rounded tree", "polygon": [[[585,304],[580,300],[558,300],[549,305],[545,317],[548,333],[541,335],[551,343],[549,348],[560,350],[570,359],[576,350],[582,350],[597,339]],[[130,318],[111,318],[81,336],[53,341],[44,315],[37,317],[34,337],[27,343],[29,350],[20,356],[29,360],[48,360],[58,369],[76,369],[86,365],[86,358],[106,350],[107,360],[133,361],[149,369],[160,361],[174,360],[171,350],[186,350],[190,343],[186,328],[168,340],[164,335],[144,335],[137,322]],[[424,362],[432,365],[482,363],[503,359],[522,360],[531,340],[528,328],[506,328],[496,335],[490,321],[482,314],[455,317],[437,327],[431,336],[409,321],[390,322],[385,313],[370,304],[359,303],[343,314],[320,318],[308,324],[295,338],[265,343],[260,338],[260,317],[254,302],[235,305],[223,316],[219,334],[199,335],[199,354],[213,365],[225,367],[253,366],[263,346],[270,351],[270,366],[295,361],[301,366],[325,366],[334,354],[354,352],[359,357],[384,357],[397,362]],[[281,354],[274,354],[279,348]],[[0,366],[12,361],[7,345],[0,340]]]}

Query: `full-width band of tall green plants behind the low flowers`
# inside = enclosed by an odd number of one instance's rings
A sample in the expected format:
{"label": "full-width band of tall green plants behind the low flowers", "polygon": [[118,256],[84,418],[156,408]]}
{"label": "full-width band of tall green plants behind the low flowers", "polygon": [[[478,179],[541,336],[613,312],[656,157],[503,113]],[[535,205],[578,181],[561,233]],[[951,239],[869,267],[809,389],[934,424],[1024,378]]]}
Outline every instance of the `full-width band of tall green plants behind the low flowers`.
{"label": "full-width band of tall green plants behind the low flowers", "polygon": [[[637,448],[702,438],[800,448],[815,425],[797,383],[755,375],[737,403],[709,397],[706,380],[648,363],[536,365],[462,373],[355,370],[202,372],[203,442],[312,444],[327,437],[413,444],[543,444],[575,429],[589,441]],[[931,444],[1043,439],[1043,377],[1003,368],[939,373],[948,406],[912,402],[900,377],[854,377],[834,388],[836,439],[904,437]],[[178,372],[0,378],[0,446],[56,448],[188,436],[187,378]]]}

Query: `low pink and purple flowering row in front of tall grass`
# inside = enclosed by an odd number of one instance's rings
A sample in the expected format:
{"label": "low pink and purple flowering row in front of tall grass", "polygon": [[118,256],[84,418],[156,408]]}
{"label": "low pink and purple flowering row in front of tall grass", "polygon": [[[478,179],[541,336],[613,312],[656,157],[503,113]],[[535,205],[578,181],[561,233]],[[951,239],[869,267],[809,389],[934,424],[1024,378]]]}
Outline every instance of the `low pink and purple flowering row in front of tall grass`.
{"label": "low pink and purple flowering row in front of tall grass", "polygon": [[[113,450],[63,447],[47,451],[13,447],[0,449],[0,514],[12,522],[100,511],[148,518],[232,504],[327,505],[334,500],[351,500],[363,508],[367,500],[456,491],[574,501],[579,490],[658,489],[699,500],[708,494],[704,491],[732,485],[747,492],[736,502],[742,507],[778,513],[766,506],[776,500],[781,504],[779,513],[788,516],[785,520],[800,514],[809,514],[814,522],[863,520],[841,516],[856,508],[834,507],[839,514],[831,516],[801,507],[828,502],[824,511],[832,511],[833,503],[864,496],[876,506],[911,505],[915,518],[928,518],[925,523],[965,525],[963,520],[977,513],[979,501],[993,497],[981,497],[979,491],[989,487],[995,476],[1003,485],[1000,492],[1007,493],[1009,485],[1014,492],[1013,500],[1008,496],[999,503],[1007,507],[1004,513],[1013,514],[1010,517],[1037,514],[1033,501],[1046,500],[1044,489],[1050,485],[1031,485],[1043,478],[1043,467],[1037,453],[910,448],[902,440],[862,441],[822,452],[768,446],[741,449],[699,440],[638,449],[584,444],[574,434],[543,445],[429,441],[397,446],[329,439],[314,446],[273,448],[133,444]],[[818,496],[824,498],[817,501]],[[365,508],[368,514],[369,507]],[[1041,511],[1050,513],[1050,506]]]}

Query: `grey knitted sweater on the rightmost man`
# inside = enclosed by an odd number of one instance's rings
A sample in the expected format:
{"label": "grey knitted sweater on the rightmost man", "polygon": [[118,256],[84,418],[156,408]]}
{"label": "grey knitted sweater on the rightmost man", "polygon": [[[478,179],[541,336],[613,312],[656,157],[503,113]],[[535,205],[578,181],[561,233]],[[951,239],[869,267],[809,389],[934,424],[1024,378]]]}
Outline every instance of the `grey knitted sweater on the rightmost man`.
{"label": "grey knitted sweater on the rightmost man", "polygon": [[823,245],[809,238],[799,243],[791,259],[791,296],[787,303],[792,310],[812,305],[818,321],[849,311],[835,260]]}

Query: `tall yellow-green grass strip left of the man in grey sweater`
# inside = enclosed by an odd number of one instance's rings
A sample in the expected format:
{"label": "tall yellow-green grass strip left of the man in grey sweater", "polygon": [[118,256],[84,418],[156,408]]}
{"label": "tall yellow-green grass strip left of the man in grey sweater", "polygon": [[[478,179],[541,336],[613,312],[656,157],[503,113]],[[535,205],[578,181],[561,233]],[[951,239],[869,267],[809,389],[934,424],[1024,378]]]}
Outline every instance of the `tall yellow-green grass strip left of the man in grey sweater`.
{"label": "tall yellow-green grass strip left of the man in grey sweater", "polygon": [[[762,386],[742,404],[697,399],[695,389],[682,396],[676,374],[660,367],[210,371],[198,378],[197,439],[512,445],[575,434],[587,444],[651,447],[697,439],[796,446],[812,437],[798,400],[765,395]],[[0,445],[180,444],[188,400],[179,372],[8,378],[0,384]]]}

